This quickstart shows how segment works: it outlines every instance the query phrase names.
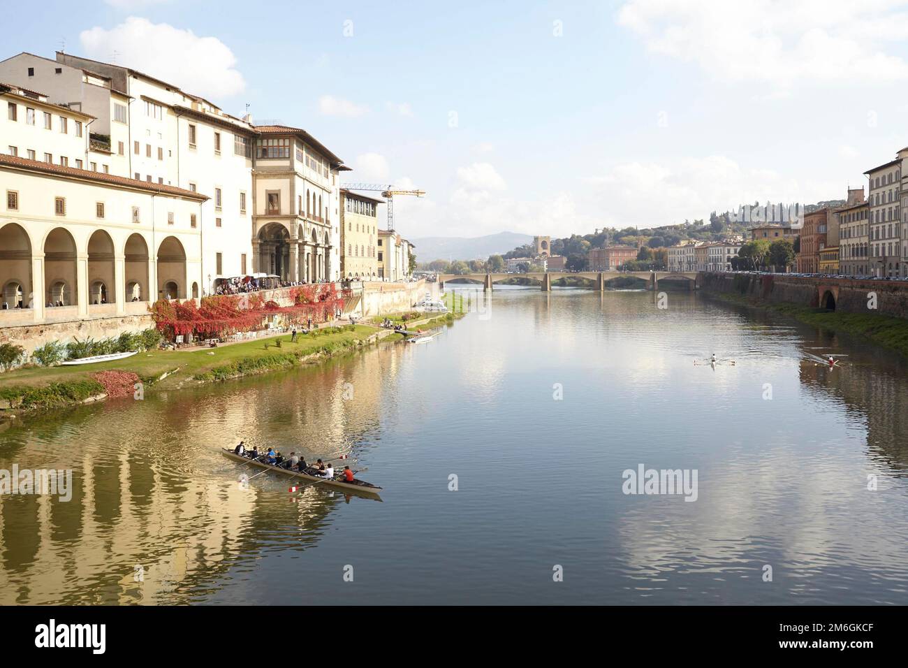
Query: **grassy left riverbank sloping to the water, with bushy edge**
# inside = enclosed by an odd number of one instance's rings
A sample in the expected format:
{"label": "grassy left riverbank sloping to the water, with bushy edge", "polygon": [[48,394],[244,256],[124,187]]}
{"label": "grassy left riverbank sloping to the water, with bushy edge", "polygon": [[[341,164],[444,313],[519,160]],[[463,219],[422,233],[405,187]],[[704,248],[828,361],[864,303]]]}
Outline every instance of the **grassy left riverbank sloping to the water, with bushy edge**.
{"label": "grassy left riverbank sloping to the water, with bushy edge", "polygon": [[298,335],[294,343],[290,334],[281,334],[217,348],[156,350],[101,364],[16,369],[0,375],[0,406],[28,409],[83,403],[104,393],[103,385],[93,378],[101,371],[136,374],[149,391],[289,369],[303,361],[353,350],[376,334],[374,327],[346,325]]}

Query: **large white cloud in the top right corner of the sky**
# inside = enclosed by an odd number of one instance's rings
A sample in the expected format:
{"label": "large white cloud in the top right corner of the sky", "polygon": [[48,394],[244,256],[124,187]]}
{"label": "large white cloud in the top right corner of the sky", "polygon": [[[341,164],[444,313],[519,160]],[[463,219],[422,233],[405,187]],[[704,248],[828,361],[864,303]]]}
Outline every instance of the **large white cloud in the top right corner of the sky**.
{"label": "large white cloud in the top right corner of the sky", "polygon": [[653,53],[723,82],[868,84],[908,79],[885,53],[908,37],[904,0],[628,0],[617,13]]}

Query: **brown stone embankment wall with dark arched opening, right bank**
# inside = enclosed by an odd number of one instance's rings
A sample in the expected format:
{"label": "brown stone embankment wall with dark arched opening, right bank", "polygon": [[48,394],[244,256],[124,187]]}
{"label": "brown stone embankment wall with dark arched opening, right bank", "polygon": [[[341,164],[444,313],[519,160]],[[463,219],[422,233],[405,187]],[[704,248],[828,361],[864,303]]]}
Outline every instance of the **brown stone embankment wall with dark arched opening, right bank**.
{"label": "brown stone embankment wall with dark arched opening, right bank", "polygon": [[[864,281],[851,278],[785,274],[713,274],[698,276],[706,292],[743,294],[773,304],[829,307],[852,314],[876,313],[908,318],[908,281]],[[875,309],[873,309],[875,305]]]}

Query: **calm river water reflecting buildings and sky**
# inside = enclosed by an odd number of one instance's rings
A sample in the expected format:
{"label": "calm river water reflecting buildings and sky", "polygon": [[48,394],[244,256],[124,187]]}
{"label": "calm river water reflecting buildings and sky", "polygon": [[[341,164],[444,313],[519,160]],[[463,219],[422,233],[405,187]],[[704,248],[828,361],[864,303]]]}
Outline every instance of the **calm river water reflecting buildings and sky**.
{"label": "calm river water reflecting buildings and sky", "polygon": [[[0,468],[75,491],[0,497],[0,603],[908,603],[902,360],[697,294],[464,294],[427,344],[6,428]],[[243,489],[239,439],[382,502]],[[639,464],[696,501],[623,494]]]}

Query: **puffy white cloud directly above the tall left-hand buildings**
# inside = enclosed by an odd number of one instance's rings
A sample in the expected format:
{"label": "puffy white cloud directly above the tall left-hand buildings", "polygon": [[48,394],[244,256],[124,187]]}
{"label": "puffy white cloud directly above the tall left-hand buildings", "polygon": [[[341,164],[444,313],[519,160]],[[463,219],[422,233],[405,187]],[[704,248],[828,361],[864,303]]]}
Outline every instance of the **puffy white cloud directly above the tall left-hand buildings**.
{"label": "puffy white cloud directly above the tall left-hand buildings", "polygon": [[100,26],[84,30],[79,39],[88,58],[107,63],[115,51],[117,63],[192,95],[229,97],[246,87],[230,48],[216,37],[200,37],[192,30],[130,16],[110,30]]}

